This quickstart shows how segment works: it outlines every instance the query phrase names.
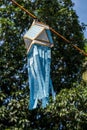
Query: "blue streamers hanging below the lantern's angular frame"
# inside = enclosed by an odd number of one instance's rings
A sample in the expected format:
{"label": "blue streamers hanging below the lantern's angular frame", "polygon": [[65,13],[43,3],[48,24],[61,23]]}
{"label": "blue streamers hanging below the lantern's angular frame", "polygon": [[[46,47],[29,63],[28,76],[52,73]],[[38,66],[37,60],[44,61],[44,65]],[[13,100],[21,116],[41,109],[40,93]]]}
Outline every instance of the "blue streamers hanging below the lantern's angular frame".
{"label": "blue streamers hanging below the lantern's angular frame", "polygon": [[28,53],[28,77],[30,88],[29,109],[38,106],[42,107],[49,103],[49,96],[52,94],[55,99],[52,81],[50,78],[51,49],[47,46],[32,45]]}

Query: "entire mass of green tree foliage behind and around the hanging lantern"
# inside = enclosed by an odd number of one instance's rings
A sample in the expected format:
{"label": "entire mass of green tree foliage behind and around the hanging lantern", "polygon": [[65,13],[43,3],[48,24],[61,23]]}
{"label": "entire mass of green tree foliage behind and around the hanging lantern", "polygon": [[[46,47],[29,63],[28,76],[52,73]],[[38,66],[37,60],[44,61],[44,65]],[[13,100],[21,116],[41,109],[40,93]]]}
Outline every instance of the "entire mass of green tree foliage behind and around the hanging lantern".
{"label": "entire mass of green tree foliage behind and around the hanging lantern", "polygon": [[[16,1],[74,45],[86,50],[84,28],[79,24],[71,0]],[[0,129],[86,130],[87,86],[77,86],[81,83],[85,59],[53,33],[51,76],[56,101],[46,109],[28,110],[27,55],[23,35],[32,21],[10,0],[1,0]]]}

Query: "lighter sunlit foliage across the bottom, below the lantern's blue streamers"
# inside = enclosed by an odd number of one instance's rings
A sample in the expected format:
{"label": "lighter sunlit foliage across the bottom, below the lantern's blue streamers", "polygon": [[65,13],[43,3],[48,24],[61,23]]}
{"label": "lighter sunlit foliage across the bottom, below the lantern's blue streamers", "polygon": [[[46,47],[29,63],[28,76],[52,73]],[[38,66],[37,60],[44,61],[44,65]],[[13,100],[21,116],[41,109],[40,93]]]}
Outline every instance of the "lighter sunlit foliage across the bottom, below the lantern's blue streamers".
{"label": "lighter sunlit foliage across the bottom, below the lantern's blue streamers", "polygon": [[28,111],[28,97],[19,97],[19,100],[12,99],[9,102],[7,110],[5,106],[0,108],[1,128],[87,129],[87,86],[61,90],[56,101],[46,109]]}

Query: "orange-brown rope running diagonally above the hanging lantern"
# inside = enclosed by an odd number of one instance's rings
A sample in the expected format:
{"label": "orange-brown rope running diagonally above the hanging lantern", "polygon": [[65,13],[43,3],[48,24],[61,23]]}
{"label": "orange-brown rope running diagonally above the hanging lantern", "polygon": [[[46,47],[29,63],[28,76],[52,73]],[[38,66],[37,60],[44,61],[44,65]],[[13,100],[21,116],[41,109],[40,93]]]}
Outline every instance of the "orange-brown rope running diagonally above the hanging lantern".
{"label": "orange-brown rope running diagonally above the hanging lantern", "polygon": [[[30,13],[28,10],[26,10],[23,6],[21,6],[20,4],[18,4],[15,0],[11,0],[15,5],[17,5],[19,8],[21,8],[24,12],[26,12],[29,16],[31,16],[33,19],[38,19],[35,15],[33,15],[32,13]],[[42,22],[41,22],[42,23]],[[59,36],[60,38],[62,38],[65,42],[69,43],[70,45],[73,46],[73,48],[75,48],[76,50],[78,50],[81,54],[83,54],[84,56],[87,56],[87,53],[85,53],[82,49],[80,49],[79,47],[73,45],[68,39],[66,39],[64,36],[62,36],[61,34],[59,34],[58,32],[56,32],[53,28],[50,27],[50,30],[56,34],[57,36]]]}

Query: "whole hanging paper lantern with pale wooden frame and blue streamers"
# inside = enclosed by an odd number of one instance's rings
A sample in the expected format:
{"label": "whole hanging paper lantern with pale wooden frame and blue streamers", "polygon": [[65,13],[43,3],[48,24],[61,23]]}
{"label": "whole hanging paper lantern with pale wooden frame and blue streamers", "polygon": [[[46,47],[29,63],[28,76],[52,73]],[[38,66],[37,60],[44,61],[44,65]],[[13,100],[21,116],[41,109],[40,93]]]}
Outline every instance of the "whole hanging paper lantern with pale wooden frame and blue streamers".
{"label": "whole hanging paper lantern with pale wooden frame and blue streamers", "polygon": [[49,102],[50,94],[55,99],[55,92],[50,77],[53,40],[49,26],[34,21],[24,35],[24,41],[28,60],[29,109],[34,109],[39,104],[42,104],[44,108]]}

